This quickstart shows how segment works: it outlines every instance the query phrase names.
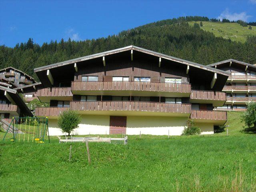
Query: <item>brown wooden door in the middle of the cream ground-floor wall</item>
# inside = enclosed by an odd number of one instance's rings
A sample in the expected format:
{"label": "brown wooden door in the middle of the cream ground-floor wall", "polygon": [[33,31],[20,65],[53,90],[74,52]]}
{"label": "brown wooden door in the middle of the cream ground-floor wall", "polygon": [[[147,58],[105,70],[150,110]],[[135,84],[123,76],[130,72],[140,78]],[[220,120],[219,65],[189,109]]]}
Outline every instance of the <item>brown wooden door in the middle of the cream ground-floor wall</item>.
{"label": "brown wooden door in the middle of the cream ground-floor wall", "polygon": [[109,134],[126,134],[126,116],[110,116]]}

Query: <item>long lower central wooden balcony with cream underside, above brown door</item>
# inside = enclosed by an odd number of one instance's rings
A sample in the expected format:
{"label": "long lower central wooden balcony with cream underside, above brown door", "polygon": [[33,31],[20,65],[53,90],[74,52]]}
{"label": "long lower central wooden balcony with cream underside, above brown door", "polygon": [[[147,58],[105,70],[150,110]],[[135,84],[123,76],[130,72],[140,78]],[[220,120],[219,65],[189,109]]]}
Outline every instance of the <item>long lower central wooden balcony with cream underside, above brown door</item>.
{"label": "long lower central wooden balcony with cream underside, above brown door", "polygon": [[190,104],[134,101],[70,102],[70,110],[80,114],[117,116],[190,116]]}

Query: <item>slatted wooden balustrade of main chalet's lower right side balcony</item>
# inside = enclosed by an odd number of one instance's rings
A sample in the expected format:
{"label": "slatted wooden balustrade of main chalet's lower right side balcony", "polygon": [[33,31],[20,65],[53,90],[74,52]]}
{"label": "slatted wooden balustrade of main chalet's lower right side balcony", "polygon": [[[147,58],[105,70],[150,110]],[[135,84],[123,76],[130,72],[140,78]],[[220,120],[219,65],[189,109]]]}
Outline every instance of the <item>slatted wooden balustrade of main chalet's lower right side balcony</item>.
{"label": "slatted wooden balustrade of main chalet's lower right side balcony", "polygon": [[191,110],[190,118],[204,120],[227,120],[227,112],[216,110]]}

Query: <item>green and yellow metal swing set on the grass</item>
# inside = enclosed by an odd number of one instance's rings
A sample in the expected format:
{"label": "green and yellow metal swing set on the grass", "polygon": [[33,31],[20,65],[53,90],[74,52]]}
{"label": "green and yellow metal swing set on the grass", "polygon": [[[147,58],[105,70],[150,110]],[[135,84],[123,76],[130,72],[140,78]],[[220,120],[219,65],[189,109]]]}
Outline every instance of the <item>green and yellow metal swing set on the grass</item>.
{"label": "green and yellow metal swing set on the grass", "polygon": [[[34,136],[35,136],[36,143],[44,143],[44,136],[45,136],[45,133],[47,132],[48,133],[48,141],[50,143],[50,135],[49,135],[49,127],[48,127],[48,118],[47,117],[19,117],[19,118],[13,117],[12,121],[10,122],[10,124],[6,130],[3,141],[5,140],[6,135],[9,131],[12,131],[12,134],[13,134],[13,138],[11,139],[11,141],[15,142],[17,140],[16,137],[17,137],[18,132],[21,131],[22,120],[24,120],[24,122],[25,122],[25,132],[24,132],[23,142],[25,142],[27,122],[29,120],[28,129],[30,131],[30,123],[34,120],[32,142],[34,142]],[[37,128],[36,128],[36,121],[38,122]],[[20,122],[20,129],[18,128],[19,122]],[[42,128],[40,128],[40,126],[41,126],[40,123],[42,123]],[[35,128],[38,130],[37,134],[35,134]],[[40,134],[39,134],[39,130],[40,130]],[[21,133],[19,134],[18,142],[20,142],[20,135],[21,135]],[[40,140],[40,139],[42,139],[42,140]],[[28,133],[28,142],[29,142],[29,133]]]}

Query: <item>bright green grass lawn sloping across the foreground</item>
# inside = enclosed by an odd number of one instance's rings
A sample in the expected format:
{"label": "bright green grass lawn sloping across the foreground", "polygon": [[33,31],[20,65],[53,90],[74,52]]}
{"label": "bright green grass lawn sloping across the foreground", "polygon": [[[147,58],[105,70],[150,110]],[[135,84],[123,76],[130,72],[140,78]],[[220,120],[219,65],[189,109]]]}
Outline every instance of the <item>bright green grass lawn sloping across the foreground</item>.
{"label": "bright green grass lawn sloping across the foreground", "polygon": [[[0,191],[256,191],[256,135],[229,112],[226,132],[128,136],[128,144],[2,142]],[[11,135],[8,134],[10,138]]]}

